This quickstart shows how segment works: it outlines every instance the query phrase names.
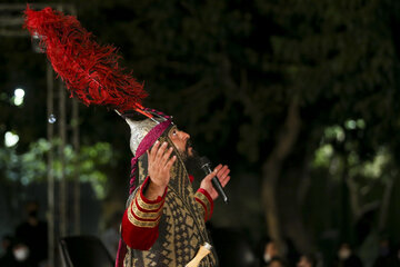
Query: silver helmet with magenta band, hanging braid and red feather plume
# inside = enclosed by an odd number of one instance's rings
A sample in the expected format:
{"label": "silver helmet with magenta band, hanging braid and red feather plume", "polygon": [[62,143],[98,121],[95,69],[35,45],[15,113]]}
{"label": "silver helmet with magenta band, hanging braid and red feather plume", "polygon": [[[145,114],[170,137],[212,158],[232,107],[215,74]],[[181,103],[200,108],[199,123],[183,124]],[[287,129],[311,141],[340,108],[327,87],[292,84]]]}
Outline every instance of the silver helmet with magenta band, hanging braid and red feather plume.
{"label": "silver helmet with magenta band, hanging braid and red feather plume", "polygon": [[[76,17],[49,7],[36,11],[27,6],[23,27],[32,38],[39,38],[41,49],[66,82],[71,97],[87,106],[114,109],[128,122],[134,156],[130,179],[132,191],[139,157],[172,125],[171,117],[142,106],[148,96],[143,83],[119,66],[121,57],[114,47],[99,44]],[[138,112],[148,119],[133,120],[132,115]]]}

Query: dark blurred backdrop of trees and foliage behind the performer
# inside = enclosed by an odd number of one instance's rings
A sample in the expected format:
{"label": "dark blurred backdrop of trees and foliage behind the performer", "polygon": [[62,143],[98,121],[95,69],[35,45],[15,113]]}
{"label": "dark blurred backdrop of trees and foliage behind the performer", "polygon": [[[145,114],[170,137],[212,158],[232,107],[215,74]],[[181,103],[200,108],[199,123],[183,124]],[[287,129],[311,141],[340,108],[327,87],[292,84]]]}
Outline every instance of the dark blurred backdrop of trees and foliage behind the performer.
{"label": "dark blurred backdrop of trees and foliage behind the performer", "polygon": [[[230,166],[231,204],[216,201],[213,227],[253,247],[266,235],[290,240],[326,259],[346,239],[366,263],[379,238],[400,240],[399,1],[68,3],[144,81],[144,106],[172,115],[201,154]],[[20,137],[0,147],[7,233],[23,201],[39,198],[31,188],[46,190],[44,170],[27,164],[46,162],[46,149],[34,148],[48,123],[47,59],[28,37],[0,38],[0,134]],[[21,106],[12,102],[18,87]],[[99,234],[128,195],[129,128],[107,108],[83,105],[79,126],[91,155],[81,180],[92,185],[86,194],[99,216],[88,226],[82,212],[82,231]]]}

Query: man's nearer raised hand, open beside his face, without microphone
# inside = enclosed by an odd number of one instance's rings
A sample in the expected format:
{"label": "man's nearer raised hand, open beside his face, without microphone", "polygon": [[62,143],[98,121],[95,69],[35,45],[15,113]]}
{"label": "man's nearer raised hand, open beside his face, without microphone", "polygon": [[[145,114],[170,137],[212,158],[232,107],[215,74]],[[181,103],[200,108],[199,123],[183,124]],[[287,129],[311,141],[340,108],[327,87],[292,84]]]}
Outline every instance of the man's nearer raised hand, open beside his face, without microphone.
{"label": "man's nearer raised hand, open beside his face, without microphone", "polygon": [[170,170],[177,156],[171,157],[173,148],[167,147],[168,142],[160,144],[156,141],[151,150],[147,151],[150,184],[144,191],[144,196],[149,200],[154,200],[159,196],[162,196],[170,181]]}

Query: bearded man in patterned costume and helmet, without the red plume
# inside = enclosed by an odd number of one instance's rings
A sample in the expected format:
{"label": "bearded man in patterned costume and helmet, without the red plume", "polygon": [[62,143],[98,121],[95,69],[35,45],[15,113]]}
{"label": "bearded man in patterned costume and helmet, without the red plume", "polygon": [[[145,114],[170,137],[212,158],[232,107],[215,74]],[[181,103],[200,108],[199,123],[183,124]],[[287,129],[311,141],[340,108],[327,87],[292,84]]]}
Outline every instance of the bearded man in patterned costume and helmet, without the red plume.
{"label": "bearded man in patterned costume and helmet, without the red plume", "polygon": [[[204,225],[211,218],[213,200],[218,197],[211,178],[217,176],[226,186],[230,179],[229,168],[217,166],[194,192],[193,177],[184,165],[193,157],[190,136],[169,118],[162,122],[126,119],[131,128],[130,147],[136,157],[131,195],[121,226],[127,245],[123,266],[186,266],[200,245],[211,243]],[[200,266],[217,266],[217,261],[212,250]]]}

